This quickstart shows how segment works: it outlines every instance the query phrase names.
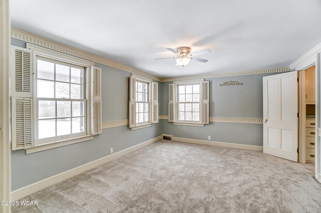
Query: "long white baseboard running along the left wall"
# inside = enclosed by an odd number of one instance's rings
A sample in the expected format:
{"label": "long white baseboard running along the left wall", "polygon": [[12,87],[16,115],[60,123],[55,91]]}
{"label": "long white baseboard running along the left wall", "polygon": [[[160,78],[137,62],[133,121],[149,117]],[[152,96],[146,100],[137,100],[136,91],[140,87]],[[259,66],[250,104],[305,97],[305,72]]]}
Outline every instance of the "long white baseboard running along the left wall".
{"label": "long white baseboard running along the left wall", "polygon": [[151,144],[153,142],[156,142],[158,140],[161,140],[163,138],[163,136],[158,136],[158,137],[155,137],[155,138],[152,138],[150,140],[147,140],[145,142],[142,142],[142,143],[139,143],[135,146],[132,146],[132,147],[129,147],[127,149],[124,149],[122,151],[119,151],[119,152],[116,152],[114,154],[111,154],[111,155],[108,155],[106,157],[102,157],[100,159],[97,159],[97,160],[94,160],[92,162],[89,162],[89,163],[86,163],[84,165],[81,165],[81,166],[78,166],[76,168],[73,168],[73,169],[70,169],[68,171],[65,171],[65,172],[62,172],[60,174],[57,174],[57,175],[54,175],[52,177],[49,177],[49,178],[46,178],[46,179],[43,179],[43,180],[40,180],[36,183],[33,183],[33,184],[30,184],[30,185],[27,185],[23,188],[19,188],[15,191],[12,191],[11,192],[11,199],[12,200],[19,200],[29,194],[32,194],[36,191],[39,191],[41,189],[44,189],[44,188],[47,188],[55,183],[58,183],[58,182],[61,182],[65,179],[68,179],[70,177],[73,177],[77,174],[80,174],[84,171],[87,171],[89,169],[92,169],[92,168],[95,168],[96,166],[99,166],[101,164],[104,164],[106,162],[109,162],[111,160],[114,160],[118,157],[121,157],[125,154],[128,154],[134,150],[137,150],[143,146],[146,146],[148,144]]}

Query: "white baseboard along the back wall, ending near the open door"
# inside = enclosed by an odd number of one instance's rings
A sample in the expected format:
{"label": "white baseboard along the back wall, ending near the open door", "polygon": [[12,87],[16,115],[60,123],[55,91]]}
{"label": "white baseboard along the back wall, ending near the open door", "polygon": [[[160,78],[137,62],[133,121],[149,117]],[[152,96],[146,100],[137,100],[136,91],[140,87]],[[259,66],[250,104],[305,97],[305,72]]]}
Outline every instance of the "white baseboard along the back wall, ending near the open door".
{"label": "white baseboard along the back wall, ending near the open door", "polygon": [[179,141],[179,142],[186,142],[186,143],[210,145],[210,146],[222,146],[222,147],[229,147],[229,148],[236,148],[236,149],[263,151],[263,146],[255,146],[255,145],[226,143],[226,142],[217,142],[217,141],[209,141],[209,140],[197,140],[197,139],[189,139],[189,138],[182,138],[182,137],[172,137],[172,140]]}

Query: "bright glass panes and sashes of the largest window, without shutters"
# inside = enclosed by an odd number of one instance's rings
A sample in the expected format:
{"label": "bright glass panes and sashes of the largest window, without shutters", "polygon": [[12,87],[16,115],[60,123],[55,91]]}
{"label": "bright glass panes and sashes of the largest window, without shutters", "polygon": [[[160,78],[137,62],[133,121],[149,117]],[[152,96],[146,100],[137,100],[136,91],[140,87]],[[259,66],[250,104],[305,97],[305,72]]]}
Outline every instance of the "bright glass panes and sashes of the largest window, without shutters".
{"label": "bright glass panes and sashes of the largest window, without shutters", "polygon": [[37,57],[36,140],[86,134],[85,68]]}

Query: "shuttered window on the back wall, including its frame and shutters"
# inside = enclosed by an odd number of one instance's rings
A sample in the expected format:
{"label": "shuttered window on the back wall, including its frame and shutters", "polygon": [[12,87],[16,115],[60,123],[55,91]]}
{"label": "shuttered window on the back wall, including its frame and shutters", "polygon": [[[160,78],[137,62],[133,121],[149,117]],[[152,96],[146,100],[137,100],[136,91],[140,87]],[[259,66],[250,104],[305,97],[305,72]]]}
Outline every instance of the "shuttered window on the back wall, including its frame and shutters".
{"label": "shuttered window on the back wall, including its frame and shutters", "polygon": [[169,85],[169,121],[180,125],[209,123],[209,82],[175,81]]}

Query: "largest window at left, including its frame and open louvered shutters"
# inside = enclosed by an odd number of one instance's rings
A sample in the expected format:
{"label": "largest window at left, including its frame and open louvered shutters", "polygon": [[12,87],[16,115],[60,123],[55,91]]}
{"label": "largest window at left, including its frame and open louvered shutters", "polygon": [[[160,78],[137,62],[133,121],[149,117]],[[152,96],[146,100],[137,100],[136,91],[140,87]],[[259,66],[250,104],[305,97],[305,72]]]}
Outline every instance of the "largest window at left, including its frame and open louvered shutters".
{"label": "largest window at left, including its frame and open louvered shutters", "polygon": [[40,151],[90,140],[101,133],[100,68],[82,59],[28,47],[31,50],[13,47],[12,51],[13,150]]}

